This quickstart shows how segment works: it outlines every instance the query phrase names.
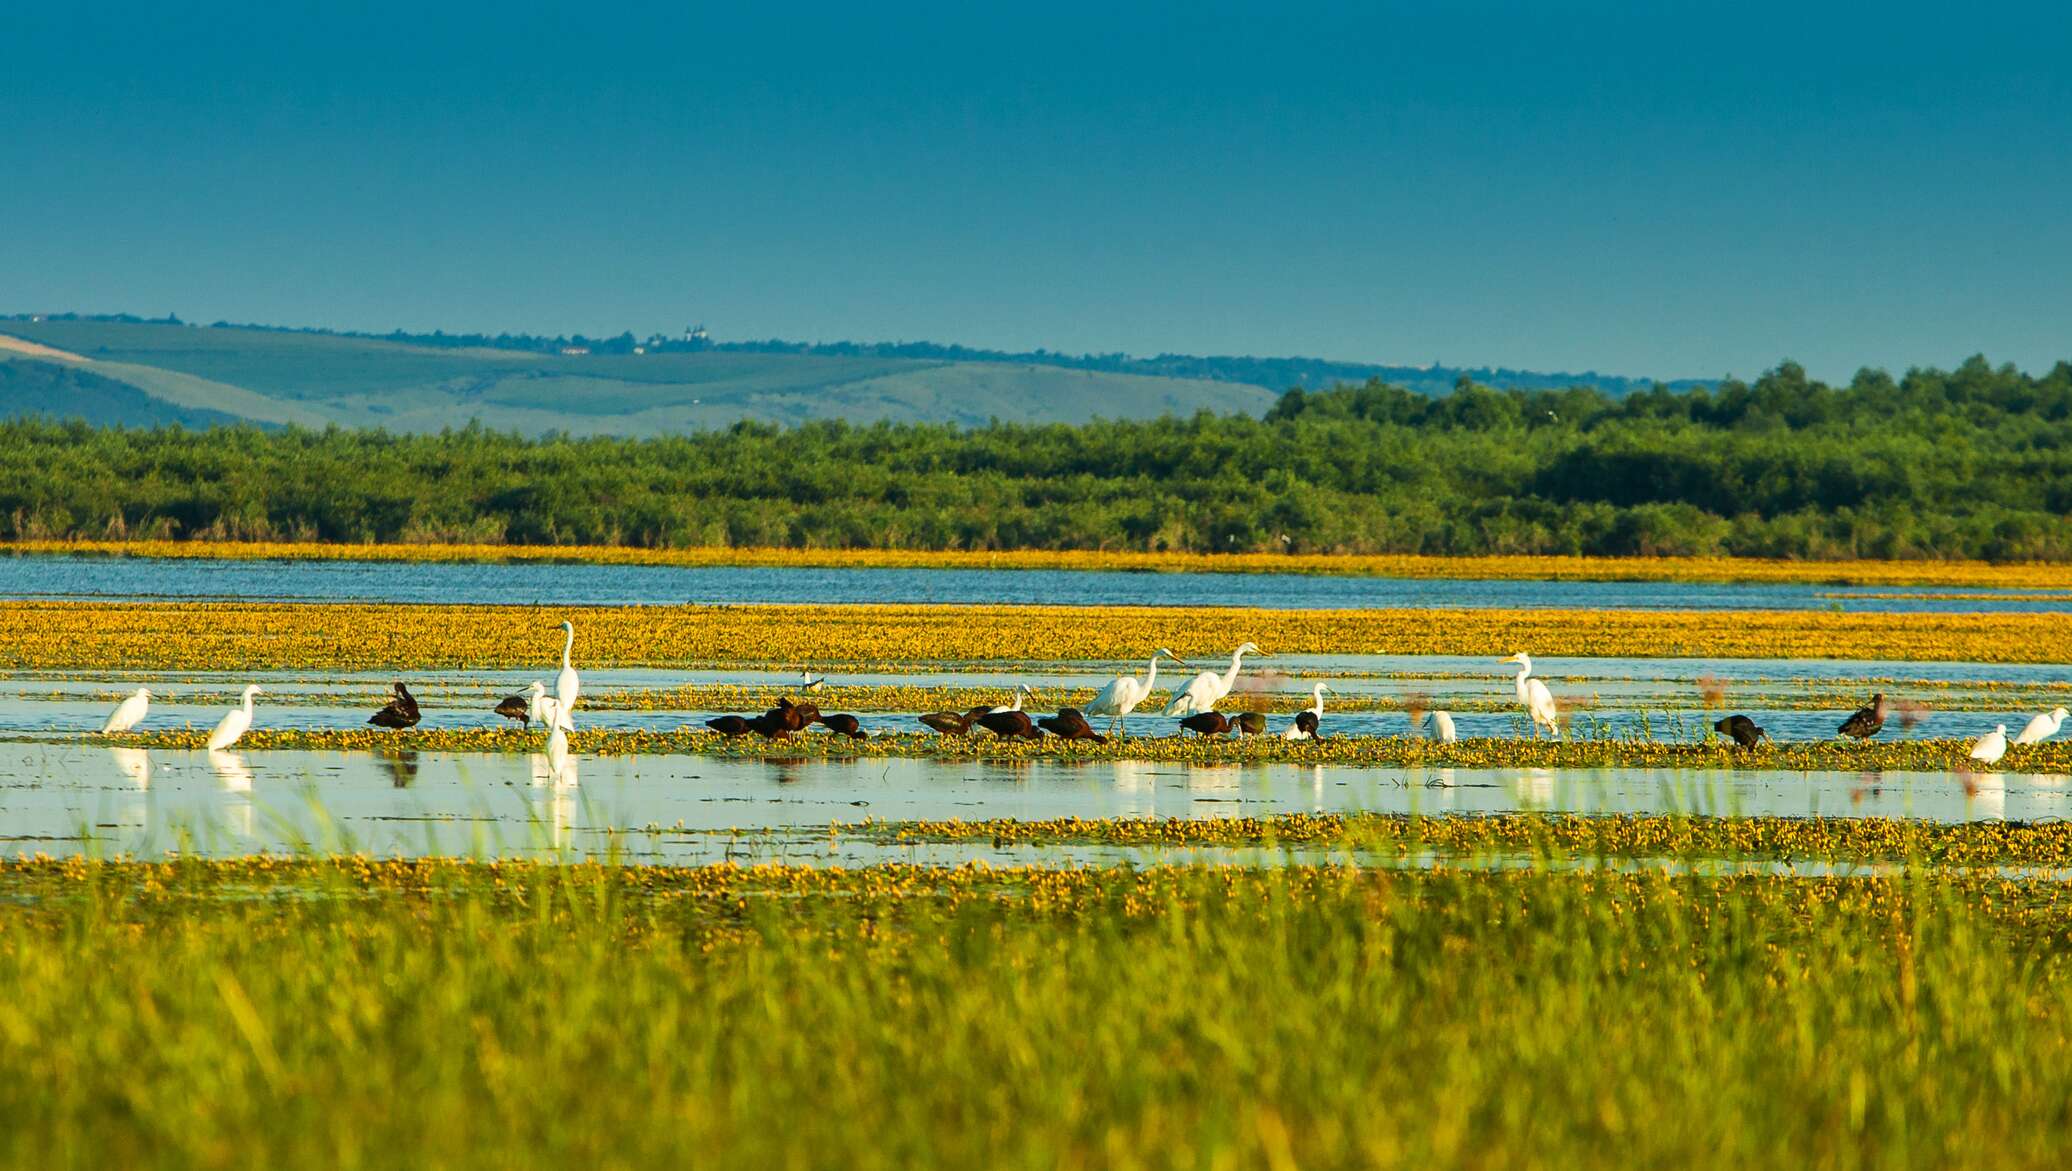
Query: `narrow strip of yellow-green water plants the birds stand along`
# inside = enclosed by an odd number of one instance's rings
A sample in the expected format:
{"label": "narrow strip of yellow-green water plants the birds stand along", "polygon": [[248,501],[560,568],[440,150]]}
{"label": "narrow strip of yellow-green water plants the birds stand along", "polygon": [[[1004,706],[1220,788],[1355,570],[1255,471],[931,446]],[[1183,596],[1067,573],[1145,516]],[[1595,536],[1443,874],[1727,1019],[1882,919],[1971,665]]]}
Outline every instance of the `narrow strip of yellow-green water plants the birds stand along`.
{"label": "narrow strip of yellow-green water plants the birds stand along", "polygon": [[[918,725],[916,725],[918,727]],[[1167,725],[1171,727],[1171,725]],[[1164,730],[1160,730],[1164,732]],[[102,738],[95,738],[102,740]],[[203,727],[128,732],[108,744],[193,750],[207,740]],[[719,736],[704,727],[584,730],[568,738],[570,750],[597,756],[680,752],[736,759],[928,759],[928,761],[1164,761],[1181,765],[1363,765],[1376,769],[1763,769],[1763,771],[1952,771],[1968,765],[1970,740],[1792,740],[1734,748],[1718,736],[1703,742],[1649,738],[1463,738],[1438,744],[1415,736],[1131,736],[1106,744],[1090,740],[1003,740],[990,732],[943,736],[916,730],[850,740],[823,730],[787,740]],[[416,750],[416,752],[539,752],[543,732],[516,727],[412,727],[300,730],[257,727],[238,740],[244,750]],[[2072,775],[2072,740],[2012,748],[2002,767],[2018,773]]]}

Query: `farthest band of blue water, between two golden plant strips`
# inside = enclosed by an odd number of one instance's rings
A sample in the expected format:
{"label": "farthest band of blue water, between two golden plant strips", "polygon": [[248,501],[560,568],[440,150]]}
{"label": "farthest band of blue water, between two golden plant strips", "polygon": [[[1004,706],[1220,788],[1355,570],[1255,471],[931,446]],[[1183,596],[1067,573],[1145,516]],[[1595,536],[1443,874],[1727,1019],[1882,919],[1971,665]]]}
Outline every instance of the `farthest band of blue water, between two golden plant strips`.
{"label": "farthest band of blue water, between two golden plant strips", "polygon": [[[1046,603],[1844,609],[1902,613],[2072,611],[2072,595],[1962,591],[1985,599],[1873,597],[1890,587],[1334,578],[1090,570],[792,570],[545,564],[211,562],[0,558],[0,599],[263,599],[520,605]],[[1929,591],[1933,593],[1933,591]]]}

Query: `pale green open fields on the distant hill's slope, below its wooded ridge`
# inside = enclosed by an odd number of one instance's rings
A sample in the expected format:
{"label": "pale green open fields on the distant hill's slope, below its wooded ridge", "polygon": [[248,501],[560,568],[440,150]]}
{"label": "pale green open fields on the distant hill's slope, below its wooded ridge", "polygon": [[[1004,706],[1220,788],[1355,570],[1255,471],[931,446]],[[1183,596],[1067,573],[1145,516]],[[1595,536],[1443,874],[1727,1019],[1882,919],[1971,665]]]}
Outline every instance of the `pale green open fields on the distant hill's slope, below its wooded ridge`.
{"label": "pale green open fields on the distant hill's slope, below its wooded ridge", "polygon": [[[733,352],[564,356],[118,321],[0,321],[0,334],[85,359],[83,369],[184,410],[394,431],[439,431],[470,419],[528,435],[661,435],[740,419],[1077,421],[1187,415],[1204,406],[1256,415],[1274,398],[1241,383],[1005,363]],[[0,369],[0,390],[4,379]],[[87,417],[155,421],[110,410]]]}

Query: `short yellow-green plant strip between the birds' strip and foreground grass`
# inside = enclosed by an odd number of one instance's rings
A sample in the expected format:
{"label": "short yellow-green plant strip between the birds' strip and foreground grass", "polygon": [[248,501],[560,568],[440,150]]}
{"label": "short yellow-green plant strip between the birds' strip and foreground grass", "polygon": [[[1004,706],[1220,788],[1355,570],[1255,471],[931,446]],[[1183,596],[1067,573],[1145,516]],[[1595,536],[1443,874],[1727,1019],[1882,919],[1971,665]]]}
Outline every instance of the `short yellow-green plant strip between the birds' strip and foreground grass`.
{"label": "short yellow-green plant strip between the birds' strip and foreground grass", "polygon": [[837,829],[889,844],[1299,846],[1440,856],[1531,854],[1548,860],[1724,858],[1807,864],[2072,866],[2072,821],[2010,825],[2004,821],[1933,823],[1888,817],[1283,812],[1208,819],[860,821]]}

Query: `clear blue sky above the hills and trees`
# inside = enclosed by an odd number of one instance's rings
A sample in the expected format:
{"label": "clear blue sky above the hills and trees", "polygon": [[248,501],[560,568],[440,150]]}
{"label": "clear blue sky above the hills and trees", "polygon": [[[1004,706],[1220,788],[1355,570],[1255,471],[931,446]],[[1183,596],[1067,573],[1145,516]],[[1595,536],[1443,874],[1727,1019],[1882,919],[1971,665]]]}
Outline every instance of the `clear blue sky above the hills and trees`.
{"label": "clear blue sky above the hills and trees", "polygon": [[2072,356],[2062,4],[10,6],[0,309]]}

